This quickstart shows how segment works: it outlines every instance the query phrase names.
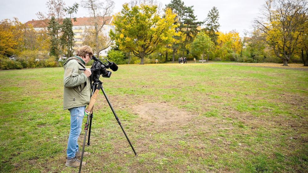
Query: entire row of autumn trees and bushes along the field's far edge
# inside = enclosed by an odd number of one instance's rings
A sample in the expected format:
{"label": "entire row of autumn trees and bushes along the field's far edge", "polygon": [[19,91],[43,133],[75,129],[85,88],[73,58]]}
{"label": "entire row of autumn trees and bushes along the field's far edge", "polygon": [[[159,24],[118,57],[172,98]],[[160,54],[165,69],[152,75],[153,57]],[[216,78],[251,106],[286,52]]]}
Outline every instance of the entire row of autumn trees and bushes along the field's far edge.
{"label": "entire row of autumn trees and bushes along the field's far edge", "polygon": [[[141,2],[141,3],[140,3]],[[62,0],[46,3],[49,13],[37,13],[43,30],[25,26],[16,18],[0,22],[0,68],[19,69],[61,66],[60,55],[73,54],[73,14],[78,4],[65,7]],[[213,7],[203,21],[197,21],[193,6],[172,0],[163,8],[153,0],[123,4],[112,21],[110,38],[102,33],[114,7],[113,1],[85,0],[92,28],[86,28],[83,44],[94,52],[112,46],[108,59],[117,64],[145,64],[188,60],[236,62],[290,62],[308,66],[307,1],[270,0],[261,9],[262,18],[254,21],[254,31],[240,38],[236,30],[219,31],[219,11]],[[94,8],[95,7],[95,8]],[[96,8],[97,7],[97,8]],[[65,18],[66,17],[66,18]],[[102,22],[99,22],[102,20]],[[10,58],[10,59],[9,59]]]}

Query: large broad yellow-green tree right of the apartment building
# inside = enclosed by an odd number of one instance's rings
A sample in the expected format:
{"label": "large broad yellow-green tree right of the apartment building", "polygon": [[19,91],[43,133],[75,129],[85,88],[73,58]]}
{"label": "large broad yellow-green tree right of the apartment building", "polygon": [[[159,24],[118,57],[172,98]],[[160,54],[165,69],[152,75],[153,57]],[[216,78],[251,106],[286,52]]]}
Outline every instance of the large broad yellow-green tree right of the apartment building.
{"label": "large broad yellow-green tree right of the apartment building", "polygon": [[129,8],[125,3],[121,13],[114,17],[116,28],[115,32],[110,32],[111,38],[119,44],[120,50],[128,50],[139,57],[140,64],[144,64],[145,56],[163,46],[171,46],[177,34],[175,14],[166,9],[164,17],[160,17],[156,12],[156,5]]}

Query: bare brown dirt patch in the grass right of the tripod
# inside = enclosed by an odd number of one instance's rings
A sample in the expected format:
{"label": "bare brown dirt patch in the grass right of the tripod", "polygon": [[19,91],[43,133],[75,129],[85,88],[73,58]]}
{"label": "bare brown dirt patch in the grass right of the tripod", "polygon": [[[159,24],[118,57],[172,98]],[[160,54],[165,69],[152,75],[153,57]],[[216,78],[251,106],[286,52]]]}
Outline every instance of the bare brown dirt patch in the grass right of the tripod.
{"label": "bare brown dirt patch in the grass right of the tripod", "polygon": [[141,104],[133,110],[142,120],[159,124],[187,122],[194,117],[192,113],[166,103]]}

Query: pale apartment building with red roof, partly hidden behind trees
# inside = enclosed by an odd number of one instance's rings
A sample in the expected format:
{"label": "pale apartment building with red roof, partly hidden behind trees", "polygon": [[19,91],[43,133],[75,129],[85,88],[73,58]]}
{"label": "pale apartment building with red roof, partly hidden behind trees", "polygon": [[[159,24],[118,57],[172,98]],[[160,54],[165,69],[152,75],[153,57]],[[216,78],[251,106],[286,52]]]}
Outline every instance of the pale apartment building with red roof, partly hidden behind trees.
{"label": "pale apartment building with red roof, partly hidden behind trees", "polygon": [[[74,19],[71,19],[73,23],[73,32],[74,32],[74,40],[75,40],[75,46],[74,49],[77,50],[79,47],[83,46],[83,34],[85,33],[86,29],[93,28],[92,23],[94,22],[93,17],[83,17],[83,18],[76,18],[76,21]],[[105,24],[102,28],[102,33],[109,37],[109,31],[110,29],[114,30],[114,25],[112,23],[113,17],[107,16],[105,18],[99,18],[98,24],[102,25],[103,21],[105,21]],[[26,25],[32,25],[36,31],[47,29],[48,26],[48,20],[30,20],[26,22]],[[99,53],[100,57],[107,56],[108,50],[110,50],[111,47],[101,51]]]}

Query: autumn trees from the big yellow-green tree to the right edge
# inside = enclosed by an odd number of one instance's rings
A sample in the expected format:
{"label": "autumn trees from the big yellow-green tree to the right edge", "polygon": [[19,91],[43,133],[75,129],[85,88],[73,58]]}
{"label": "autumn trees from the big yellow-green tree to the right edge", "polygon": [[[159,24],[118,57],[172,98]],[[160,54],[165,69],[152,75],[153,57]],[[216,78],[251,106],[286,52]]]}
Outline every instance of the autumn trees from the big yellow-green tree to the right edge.
{"label": "autumn trees from the big yellow-green tree to the right edge", "polygon": [[197,21],[193,6],[185,6],[181,0],[172,0],[163,11],[153,1],[126,3],[114,17],[116,28],[110,36],[117,45],[114,51],[121,51],[122,61],[127,63],[134,57],[140,64],[186,57],[284,65],[301,62],[307,66],[307,1],[266,1],[261,12],[253,33],[245,32],[240,38],[236,30],[219,32],[216,7],[206,19]]}

